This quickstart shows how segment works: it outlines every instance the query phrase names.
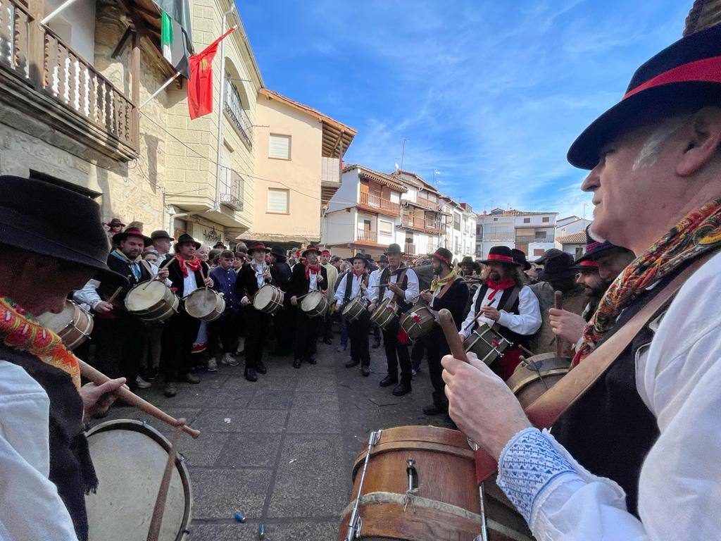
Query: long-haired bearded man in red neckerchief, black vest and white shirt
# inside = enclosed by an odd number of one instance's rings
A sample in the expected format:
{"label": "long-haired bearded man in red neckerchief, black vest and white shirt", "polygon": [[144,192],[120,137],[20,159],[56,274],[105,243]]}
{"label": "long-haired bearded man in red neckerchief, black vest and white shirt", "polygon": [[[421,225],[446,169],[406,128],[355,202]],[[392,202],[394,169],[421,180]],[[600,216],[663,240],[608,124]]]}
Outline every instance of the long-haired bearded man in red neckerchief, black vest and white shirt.
{"label": "long-haired bearded man in red neckerchief, black vest and white shirt", "polygon": [[[494,327],[497,332],[516,346],[528,347],[528,339],[541,326],[539,302],[533,291],[523,285],[521,265],[513,259],[507,246],[494,246],[486,265],[485,281],[473,296],[471,309],[466,315],[459,335],[465,340],[481,323]],[[508,379],[520,362],[521,349],[508,348],[497,359],[494,370]]]}

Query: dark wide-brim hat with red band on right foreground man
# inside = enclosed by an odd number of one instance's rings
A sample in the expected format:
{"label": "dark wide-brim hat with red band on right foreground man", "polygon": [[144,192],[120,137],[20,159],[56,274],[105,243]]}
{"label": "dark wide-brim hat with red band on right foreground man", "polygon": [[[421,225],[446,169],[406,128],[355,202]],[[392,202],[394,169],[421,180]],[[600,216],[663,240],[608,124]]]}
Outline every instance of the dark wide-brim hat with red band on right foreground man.
{"label": "dark wide-brim hat with red band on right foreground man", "polygon": [[704,105],[721,105],[721,25],[681,38],[637,69],[621,102],[573,142],[568,162],[591,170],[603,146],[614,138]]}

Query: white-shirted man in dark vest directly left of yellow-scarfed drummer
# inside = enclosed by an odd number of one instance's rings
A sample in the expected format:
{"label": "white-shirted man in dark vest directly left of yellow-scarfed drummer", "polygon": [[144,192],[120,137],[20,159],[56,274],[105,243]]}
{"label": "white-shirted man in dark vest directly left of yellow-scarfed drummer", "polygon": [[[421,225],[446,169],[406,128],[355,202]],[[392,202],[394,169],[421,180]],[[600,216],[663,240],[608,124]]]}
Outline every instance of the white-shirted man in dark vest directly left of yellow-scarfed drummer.
{"label": "white-shirted man in dark vest directly left of yellow-scarfed drummer", "polygon": [[[381,271],[379,276],[379,287],[371,291],[371,305],[368,310],[373,313],[376,305],[384,299],[394,299],[398,307],[397,314],[407,312],[418,298],[418,277],[412,269],[402,264],[401,256],[404,253],[400,245],[389,245],[385,253],[388,258],[388,266]],[[406,335],[399,336],[398,320],[390,323],[383,330],[383,344],[386,348],[386,362],[388,363],[388,374],[381,380],[381,387],[395,385],[393,394],[395,396],[406,395],[411,392],[411,379],[413,367],[408,354],[408,338]],[[400,365],[401,377],[398,380],[398,366]]]}

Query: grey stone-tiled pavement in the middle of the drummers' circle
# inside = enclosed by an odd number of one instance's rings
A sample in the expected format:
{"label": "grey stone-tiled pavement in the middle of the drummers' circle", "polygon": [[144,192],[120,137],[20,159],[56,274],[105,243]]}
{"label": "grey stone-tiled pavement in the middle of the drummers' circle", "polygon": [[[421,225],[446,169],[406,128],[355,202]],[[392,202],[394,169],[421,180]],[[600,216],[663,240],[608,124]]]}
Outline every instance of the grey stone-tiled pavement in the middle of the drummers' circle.
{"label": "grey stone-tiled pavement in the middle of the drummers' circle", "polygon": [[[180,384],[174,398],[162,383],[141,395],[202,431],[185,436],[180,452],[190,470],[193,522],[190,541],[334,541],[350,501],[350,469],[368,434],[410,424],[446,426],[427,418],[430,381],[424,366],[413,392],[394,397],[379,387],[386,372],[383,348],[371,350],[371,376],[346,369],[347,353],[318,344],[318,364],[293,369],[289,357],[265,356],[268,373],[256,383],[243,366],[201,373],[200,384]],[[108,418],[147,421],[168,438],[172,428],[134,408],[113,408]],[[226,423],[225,419],[230,422]],[[240,524],[235,511],[247,516]]]}

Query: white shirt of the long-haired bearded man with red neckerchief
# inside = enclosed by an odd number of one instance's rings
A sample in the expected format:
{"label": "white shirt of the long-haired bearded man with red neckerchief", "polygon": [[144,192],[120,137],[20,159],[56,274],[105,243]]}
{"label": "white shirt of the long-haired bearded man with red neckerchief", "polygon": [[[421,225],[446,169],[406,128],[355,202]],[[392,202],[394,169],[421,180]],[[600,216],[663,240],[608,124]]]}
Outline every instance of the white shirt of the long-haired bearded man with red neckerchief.
{"label": "white shirt of the long-haired bearded man with red neckerchief", "polygon": [[[471,309],[469,309],[468,315],[466,315],[466,320],[461,325],[461,331],[459,331],[466,338],[468,338],[473,331],[473,325],[471,325],[471,322],[476,316],[476,302],[478,301],[478,296],[481,293],[481,289],[482,287],[479,287],[476,290],[476,293],[474,294],[473,300],[471,302]],[[493,300],[490,301],[489,298],[492,293],[493,290],[488,288],[483,302],[481,303],[481,306],[490,306],[496,309],[498,308],[500,298],[503,296],[503,291],[497,291],[495,296],[493,297]],[[528,286],[523,286],[521,288],[521,291],[518,293],[518,312],[520,313],[509,314],[504,310],[500,310],[498,325],[500,325],[501,327],[506,327],[508,330],[512,330],[514,333],[524,336],[532,335],[541,328],[541,323],[543,322],[543,320],[541,319],[541,307],[539,305],[539,299]],[[494,320],[490,320],[485,316],[479,316],[478,322],[479,324],[485,323],[489,327],[492,327],[495,323]]]}

